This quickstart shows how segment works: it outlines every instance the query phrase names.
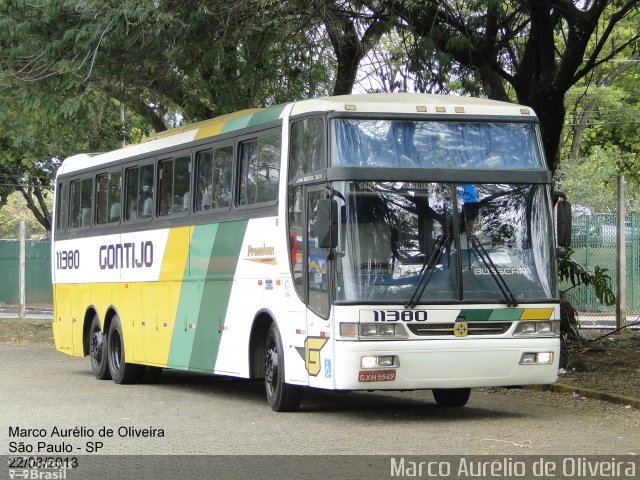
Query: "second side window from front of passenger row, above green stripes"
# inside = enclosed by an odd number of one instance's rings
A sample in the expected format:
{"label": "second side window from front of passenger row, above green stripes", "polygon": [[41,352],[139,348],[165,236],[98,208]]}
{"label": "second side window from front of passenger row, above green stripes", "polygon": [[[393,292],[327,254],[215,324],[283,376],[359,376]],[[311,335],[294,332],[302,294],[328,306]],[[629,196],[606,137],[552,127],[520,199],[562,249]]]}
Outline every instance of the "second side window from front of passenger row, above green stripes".
{"label": "second side window from front of passenger row, above green stripes", "polygon": [[232,145],[196,154],[197,212],[231,206],[232,168]]}

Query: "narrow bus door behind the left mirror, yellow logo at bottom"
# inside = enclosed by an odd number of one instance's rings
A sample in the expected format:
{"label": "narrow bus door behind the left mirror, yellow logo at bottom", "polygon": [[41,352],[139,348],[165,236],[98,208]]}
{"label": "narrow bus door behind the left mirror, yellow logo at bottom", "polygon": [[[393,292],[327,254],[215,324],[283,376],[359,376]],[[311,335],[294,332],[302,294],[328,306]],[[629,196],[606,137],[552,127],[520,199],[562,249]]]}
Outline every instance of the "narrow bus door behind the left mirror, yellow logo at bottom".
{"label": "narrow bus door behind the left mirror, yellow logo at bottom", "polygon": [[333,343],[331,337],[331,282],[329,260],[331,250],[319,246],[319,201],[328,198],[324,186],[308,187],[306,195],[306,289],[307,289],[307,338],[305,340],[305,366],[309,385],[331,388],[333,386]]}

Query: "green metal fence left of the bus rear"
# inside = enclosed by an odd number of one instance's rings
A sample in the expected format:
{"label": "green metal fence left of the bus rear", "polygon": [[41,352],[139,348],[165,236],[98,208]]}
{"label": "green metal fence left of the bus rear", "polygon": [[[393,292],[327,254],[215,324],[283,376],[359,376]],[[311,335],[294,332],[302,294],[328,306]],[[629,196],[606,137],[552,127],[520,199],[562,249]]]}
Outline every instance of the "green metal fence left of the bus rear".
{"label": "green metal fence left of the bus rear", "polygon": [[[51,306],[50,242],[27,241],[25,244],[25,302],[28,306]],[[0,240],[0,303],[19,303],[17,240]]]}

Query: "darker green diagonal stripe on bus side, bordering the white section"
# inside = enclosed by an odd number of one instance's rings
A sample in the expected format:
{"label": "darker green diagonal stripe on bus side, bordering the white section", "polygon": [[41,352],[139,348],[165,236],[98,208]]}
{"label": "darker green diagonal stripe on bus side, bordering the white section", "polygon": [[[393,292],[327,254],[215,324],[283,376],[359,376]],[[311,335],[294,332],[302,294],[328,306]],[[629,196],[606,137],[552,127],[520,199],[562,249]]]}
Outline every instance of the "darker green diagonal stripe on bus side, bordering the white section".
{"label": "darker green diagonal stripe on bus side, bordering the white section", "polygon": [[[214,370],[247,220],[218,225],[199,303],[189,368]],[[196,227],[198,230],[201,227]],[[201,284],[202,285],[202,284]]]}

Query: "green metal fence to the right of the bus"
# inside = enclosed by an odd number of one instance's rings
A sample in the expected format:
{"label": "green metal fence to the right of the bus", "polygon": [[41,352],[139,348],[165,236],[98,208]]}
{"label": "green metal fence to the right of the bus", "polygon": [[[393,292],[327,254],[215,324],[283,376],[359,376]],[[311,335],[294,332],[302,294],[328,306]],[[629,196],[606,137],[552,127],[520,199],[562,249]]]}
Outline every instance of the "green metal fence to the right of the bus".
{"label": "green metal fence to the right of the bus", "polygon": [[[627,310],[632,315],[640,313],[640,214],[630,213],[624,221],[627,274]],[[616,214],[578,215],[573,217],[573,258],[588,270],[596,266],[605,268],[616,285],[616,238],[618,221]],[[568,285],[561,285],[568,288]],[[567,297],[581,313],[581,317],[615,315],[615,305],[603,305],[596,298],[593,288],[576,287]]]}

